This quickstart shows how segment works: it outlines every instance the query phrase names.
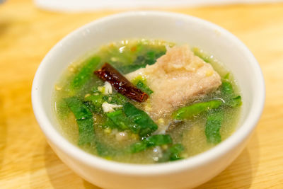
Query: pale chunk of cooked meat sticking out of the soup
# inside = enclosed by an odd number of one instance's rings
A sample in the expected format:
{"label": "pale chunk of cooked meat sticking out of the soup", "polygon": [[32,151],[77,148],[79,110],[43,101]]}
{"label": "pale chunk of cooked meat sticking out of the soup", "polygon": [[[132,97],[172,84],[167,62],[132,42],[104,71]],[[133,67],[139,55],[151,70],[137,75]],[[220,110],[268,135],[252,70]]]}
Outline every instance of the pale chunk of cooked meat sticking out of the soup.
{"label": "pale chunk of cooked meat sticking out of the soup", "polygon": [[145,110],[155,121],[221,85],[219,74],[187,45],[168,49],[155,64],[133,71],[126,78],[132,81],[137,76],[145,77],[154,91],[147,104],[150,108]]}

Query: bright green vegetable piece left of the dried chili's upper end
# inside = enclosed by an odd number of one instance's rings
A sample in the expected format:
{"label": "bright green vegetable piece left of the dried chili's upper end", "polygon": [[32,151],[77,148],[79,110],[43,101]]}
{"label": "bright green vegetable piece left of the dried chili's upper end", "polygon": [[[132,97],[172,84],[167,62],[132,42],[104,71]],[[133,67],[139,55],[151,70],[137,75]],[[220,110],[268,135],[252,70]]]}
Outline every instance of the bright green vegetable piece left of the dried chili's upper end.
{"label": "bright green vegetable piece left of the dried chili's upper end", "polygon": [[96,69],[99,63],[100,57],[92,57],[91,59],[88,59],[81,70],[74,76],[73,81],[71,81],[70,88],[79,89],[86,84],[88,79],[90,79],[93,75],[93,71]]}

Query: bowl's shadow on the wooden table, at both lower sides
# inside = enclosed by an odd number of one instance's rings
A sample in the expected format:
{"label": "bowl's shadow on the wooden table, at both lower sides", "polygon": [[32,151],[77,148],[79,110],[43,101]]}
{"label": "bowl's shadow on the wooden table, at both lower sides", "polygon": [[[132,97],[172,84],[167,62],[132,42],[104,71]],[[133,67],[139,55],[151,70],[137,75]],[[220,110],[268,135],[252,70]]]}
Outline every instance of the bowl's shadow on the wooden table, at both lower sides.
{"label": "bowl's shadow on the wooden table, at both lower sides", "polygon": [[[248,146],[228,168],[196,189],[250,188],[253,177],[258,171],[259,156],[258,135],[255,131],[250,138]],[[98,186],[88,183],[71,171],[71,169],[58,158],[48,144],[45,145],[44,158],[47,176],[53,188],[99,189]]]}

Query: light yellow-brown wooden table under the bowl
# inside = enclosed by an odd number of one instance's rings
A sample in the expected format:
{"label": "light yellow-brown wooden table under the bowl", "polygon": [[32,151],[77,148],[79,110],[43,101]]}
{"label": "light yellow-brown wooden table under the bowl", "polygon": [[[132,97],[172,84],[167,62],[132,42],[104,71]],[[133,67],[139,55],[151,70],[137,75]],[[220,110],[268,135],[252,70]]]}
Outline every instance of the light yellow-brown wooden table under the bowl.
{"label": "light yellow-brown wooden table under the bowl", "polygon": [[[283,188],[283,4],[168,9],[212,21],[243,40],[260,63],[267,98],[238,159],[200,188]],[[118,11],[51,13],[30,0],[0,5],[0,188],[97,188],[48,146],[30,100],[42,58],[72,30]]]}

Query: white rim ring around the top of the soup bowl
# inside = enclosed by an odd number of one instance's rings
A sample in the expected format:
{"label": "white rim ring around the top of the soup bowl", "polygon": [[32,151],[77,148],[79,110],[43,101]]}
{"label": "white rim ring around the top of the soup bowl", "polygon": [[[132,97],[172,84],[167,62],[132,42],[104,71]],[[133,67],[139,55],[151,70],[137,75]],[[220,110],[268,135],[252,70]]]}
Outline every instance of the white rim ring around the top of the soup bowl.
{"label": "white rim ring around the top of the soup bowl", "polygon": [[[233,132],[230,137],[225,139],[220,144],[216,145],[212,149],[202,152],[201,154],[197,154],[195,156],[189,157],[187,159],[183,159],[180,161],[167,162],[163,164],[127,164],[120,163],[117,161],[108,161],[106,159],[100,158],[99,156],[95,156],[92,154],[88,154],[86,151],[83,151],[79,147],[76,147],[75,144],[72,144],[68,141],[62,134],[52,126],[52,123],[47,118],[47,115],[42,107],[42,101],[40,96],[40,81],[42,79],[42,75],[45,72],[45,67],[47,64],[51,62],[48,60],[48,57],[52,56],[54,52],[62,45],[62,43],[67,42],[71,38],[75,37],[77,34],[81,33],[81,31],[86,30],[92,25],[96,25],[97,23],[107,23],[108,21],[115,20],[117,18],[126,18],[129,16],[170,16],[174,18],[180,18],[185,20],[190,20],[191,22],[196,22],[200,25],[205,25],[209,28],[214,28],[216,30],[220,30],[223,35],[226,35],[226,38],[230,38],[238,47],[241,47],[243,52],[246,53],[248,57],[247,62],[251,64],[253,69],[255,69],[255,75],[253,75],[258,82],[256,82],[255,88],[257,89],[257,96],[255,96],[253,103],[251,104],[250,112],[246,116],[246,119],[243,121],[243,124],[239,126],[238,130]],[[265,82],[263,79],[262,71],[260,69],[260,65],[257,60],[253,56],[253,54],[248,50],[248,47],[241,42],[235,35],[229,33],[228,30],[221,28],[220,26],[210,23],[209,21],[204,21],[201,18],[197,18],[195,16],[189,16],[181,13],[171,13],[165,11],[129,11],[124,13],[117,13],[111,16],[106,16],[104,18],[99,18],[98,20],[92,21],[86,25],[83,25],[81,28],[74,30],[69,33],[62,40],[57,42],[54,47],[50,50],[50,52],[45,55],[44,59],[40,63],[38,67],[35,77],[33,80],[32,86],[32,104],[33,104],[33,112],[35,114],[35,118],[40,125],[42,132],[44,132],[45,137],[52,142],[52,144],[56,145],[60,150],[64,151],[68,156],[72,156],[77,161],[81,161],[83,164],[88,166],[99,168],[100,170],[108,171],[111,173],[120,173],[125,175],[136,175],[136,176],[150,176],[150,175],[163,175],[167,173],[175,173],[179,171],[184,171],[187,169],[197,168],[198,166],[202,166],[209,162],[218,159],[220,156],[225,154],[230,149],[235,148],[240,144],[244,139],[248,137],[248,135],[255,129],[255,126],[260,119],[260,115],[262,114],[262,110],[265,104]],[[255,103],[257,102],[257,103]]]}

